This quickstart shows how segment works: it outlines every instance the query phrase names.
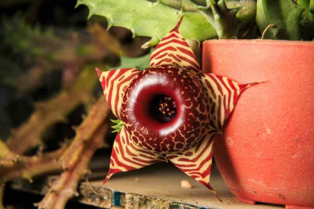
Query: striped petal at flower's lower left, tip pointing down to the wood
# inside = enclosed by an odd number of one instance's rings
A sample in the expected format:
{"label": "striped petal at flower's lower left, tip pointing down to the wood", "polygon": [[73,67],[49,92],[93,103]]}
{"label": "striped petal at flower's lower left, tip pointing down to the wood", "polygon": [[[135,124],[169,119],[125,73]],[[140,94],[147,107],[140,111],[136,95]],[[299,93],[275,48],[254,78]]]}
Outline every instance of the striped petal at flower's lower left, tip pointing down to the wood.
{"label": "striped petal at flower's lower left, tip pointing down to the wood", "polygon": [[103,185],[115,173],[143,168],[161,161],[165,161],[161,154],[139,148],[133,143],[125,127],[122,127],[113,144],[110,168]]}

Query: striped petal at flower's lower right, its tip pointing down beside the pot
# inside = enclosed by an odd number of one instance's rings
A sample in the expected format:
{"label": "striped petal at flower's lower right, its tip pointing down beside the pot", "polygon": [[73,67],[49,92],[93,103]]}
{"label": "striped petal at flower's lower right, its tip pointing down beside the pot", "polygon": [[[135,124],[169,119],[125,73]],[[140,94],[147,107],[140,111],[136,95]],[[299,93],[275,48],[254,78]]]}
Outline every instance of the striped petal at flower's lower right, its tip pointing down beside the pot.
{"label": "striped petal at flower's lower right, its tip pointing down beside the pot", "polygon": [[171,154],[166,157],[181,171],[206,186],[219,199],[216,192],[209,184],[213,159],[213,144],[216,134],[216,130],[209,129],[196,146],[188,149],[181,155]]}

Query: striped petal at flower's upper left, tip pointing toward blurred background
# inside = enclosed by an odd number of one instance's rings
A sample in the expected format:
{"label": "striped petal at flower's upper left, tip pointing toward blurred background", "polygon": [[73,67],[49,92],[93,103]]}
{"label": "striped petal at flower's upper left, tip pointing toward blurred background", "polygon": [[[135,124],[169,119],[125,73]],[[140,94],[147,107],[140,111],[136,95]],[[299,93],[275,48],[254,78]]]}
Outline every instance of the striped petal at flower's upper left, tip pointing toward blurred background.
{"label": "striped petal at flower's upper left, tip pointing toward blurred background", "polygon": [[121,68],[111,71],[100,71],[96,68],[98,78],[104,91],[106,100],[113,114],[121,120],[120,109],[125,88],[141,70],[135,68]]}

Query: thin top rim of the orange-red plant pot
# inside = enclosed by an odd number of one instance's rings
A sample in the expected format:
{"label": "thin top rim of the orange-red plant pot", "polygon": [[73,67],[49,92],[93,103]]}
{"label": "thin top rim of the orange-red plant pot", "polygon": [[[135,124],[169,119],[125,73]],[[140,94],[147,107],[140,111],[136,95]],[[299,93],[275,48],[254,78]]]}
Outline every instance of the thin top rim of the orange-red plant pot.
{"label": "thin top rim of the orange-red plant pot", "polygon": [[225,43],[238,43],[238,44],[278,44],[278,45],[307,45],[314,47],[314,41],[290,41],[290,40],[273,40],[273,39],[211,39],[203,41],[203,44],[225,44]]}

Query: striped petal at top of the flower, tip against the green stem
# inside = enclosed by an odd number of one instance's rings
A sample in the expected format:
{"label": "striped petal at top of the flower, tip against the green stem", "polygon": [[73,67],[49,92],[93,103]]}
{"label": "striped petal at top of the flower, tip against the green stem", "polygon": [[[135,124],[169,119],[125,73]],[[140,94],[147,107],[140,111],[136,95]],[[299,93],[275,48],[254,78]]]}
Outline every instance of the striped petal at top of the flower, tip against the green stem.
{"label": "striped petal at top of the flower, tip against the green stem", "polygon": [[178,24],[159,42],[155,47],[149,65],[151,67],[160,65],[172,65],[181,67],[193,73],[199,73],[200,67],[198,60],[185,39],[179,33],[179,26],[183,16]]}

